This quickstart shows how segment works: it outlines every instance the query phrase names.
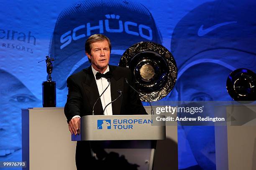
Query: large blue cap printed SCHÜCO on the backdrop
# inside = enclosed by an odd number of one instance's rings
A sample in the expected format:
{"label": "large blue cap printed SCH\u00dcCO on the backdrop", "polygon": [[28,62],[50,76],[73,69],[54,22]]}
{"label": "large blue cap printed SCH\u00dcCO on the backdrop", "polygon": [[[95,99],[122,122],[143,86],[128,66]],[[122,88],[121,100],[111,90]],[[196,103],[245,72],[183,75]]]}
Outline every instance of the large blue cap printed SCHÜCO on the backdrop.
{"label": "large blue cap printed SCH\u00dcCO on the backdrop", "polygon": [[76,65],[88,62],[84,42],[96,33],[109,37],[112,54],[120,56],[137,42],[161,44],[154,18],[140,3],[129,0],[77,2],[59,14],[50,44],[49,53],[55,59],[52,77],[58,88],[65,87],[67,77]]}

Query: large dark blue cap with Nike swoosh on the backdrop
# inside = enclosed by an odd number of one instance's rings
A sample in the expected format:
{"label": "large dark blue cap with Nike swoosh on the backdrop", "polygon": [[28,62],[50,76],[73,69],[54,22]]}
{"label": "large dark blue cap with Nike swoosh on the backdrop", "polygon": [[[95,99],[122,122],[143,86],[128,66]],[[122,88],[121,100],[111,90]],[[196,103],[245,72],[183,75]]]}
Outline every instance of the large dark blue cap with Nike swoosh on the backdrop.
{"label": "large dark blue cap with Nike swoosh on the backdrop", "polygon": [[202,62],[255,71],[255,9],[253,0],[217,0],[185,15],[175,27],[171,42],[179,75]]}

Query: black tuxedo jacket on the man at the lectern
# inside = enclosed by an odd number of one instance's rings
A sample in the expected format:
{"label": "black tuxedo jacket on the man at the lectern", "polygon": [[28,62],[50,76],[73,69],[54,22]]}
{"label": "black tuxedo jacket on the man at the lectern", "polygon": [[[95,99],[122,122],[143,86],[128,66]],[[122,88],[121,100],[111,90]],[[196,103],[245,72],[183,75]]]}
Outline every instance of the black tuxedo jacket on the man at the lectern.
{"label": "black tuxedo jacket on the man at the lectern", "polygon": [[[125,82],[125,78],[127,78],[131,85],[134,84],[131,78],[131,70],[113,65],[109,65],[109,70],[112,74],[110,78],[111,100],[113,101],[118,97],[118,90],[123,91],[118,100],[112,103],[113,115],[147,114],[138,93]],[[68,77],[67,87],[67,103],[64,107],[67,121],[69,122],[75,115],[80,117],[92,115],[92,107],[97,98],[100,97],[92,66]],[[100,99],[95,105],[94,114],[103,115]]]}

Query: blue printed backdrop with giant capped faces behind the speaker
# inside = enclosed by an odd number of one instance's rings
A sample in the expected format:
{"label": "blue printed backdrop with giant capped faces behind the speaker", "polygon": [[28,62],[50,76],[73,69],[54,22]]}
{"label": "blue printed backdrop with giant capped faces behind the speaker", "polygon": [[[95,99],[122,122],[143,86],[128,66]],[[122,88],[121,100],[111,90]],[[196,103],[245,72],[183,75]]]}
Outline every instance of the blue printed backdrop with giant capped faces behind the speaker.
{"label": "blue printed backdrop with giant capped faces behind the speaker", "polygon": [[[0,161],[21,160],[21,108],[42,106],[46,55],[55,58],[57,106],[69,75],[89,66],[84,42],[107,35],[110,64],[140,41],[172,52],[175,89],[162,100],[232,100],[228,74],[256,71],[253,0],[9,0],[0,6]],[[207,135],[206,135],[207,134]],[[214,127],[178,127],[179,169],[215,169]]]}

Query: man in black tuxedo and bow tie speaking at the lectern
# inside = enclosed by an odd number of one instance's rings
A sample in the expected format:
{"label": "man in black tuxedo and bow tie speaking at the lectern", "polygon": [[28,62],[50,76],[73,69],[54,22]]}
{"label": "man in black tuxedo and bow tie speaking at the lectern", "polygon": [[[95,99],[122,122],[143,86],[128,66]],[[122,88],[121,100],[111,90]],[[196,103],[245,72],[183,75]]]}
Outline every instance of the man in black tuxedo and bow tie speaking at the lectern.
{"label": "man in black tuxedo and bow tie speaking at the lectern", "polygon": [[[110,52],[111,43],[108,37],[101,34],[90,36],[85,42],[85,53],[92,65],[67,79],[69,92],[64,112],[71,134],[79,133],[80,117],[92,115],[93,105],[108,87],[108,80],[110,80],[109,87],[95,104],[95,115],[147,114],[138,94],[125,82],[125,79],[133,82],[131,71],[123,67],[108,65]],[[123,94],[118,100],[108,105],[118,97],[118,90],[121,90]],[[106,105],[108,107],[103,113]],[[76,165],[78,170],[94,162],[90,148],[88,141],[77,142]]]}

